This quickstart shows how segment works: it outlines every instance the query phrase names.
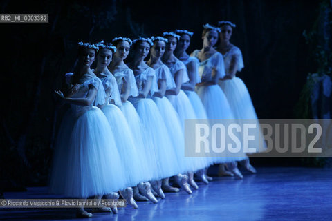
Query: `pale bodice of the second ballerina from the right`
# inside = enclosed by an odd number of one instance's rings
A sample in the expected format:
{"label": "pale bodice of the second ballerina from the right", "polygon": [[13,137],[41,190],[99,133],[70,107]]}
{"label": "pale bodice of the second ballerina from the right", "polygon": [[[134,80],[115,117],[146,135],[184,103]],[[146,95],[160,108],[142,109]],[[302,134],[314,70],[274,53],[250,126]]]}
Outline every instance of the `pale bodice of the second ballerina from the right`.
{"label": "pale bodice of the second ballerina from the right", "polygon": [[[192,55],[196,58],[199,56],[199,50],[194,50]],[[218,70],[220,73],[219,77],[225,76],[225,66],[223,64],[223,55],[219,52],[215,52],[214,55],[206,59],[205,61],[199,62],[199,76],[201,81],[212,81],[212,70]]]}

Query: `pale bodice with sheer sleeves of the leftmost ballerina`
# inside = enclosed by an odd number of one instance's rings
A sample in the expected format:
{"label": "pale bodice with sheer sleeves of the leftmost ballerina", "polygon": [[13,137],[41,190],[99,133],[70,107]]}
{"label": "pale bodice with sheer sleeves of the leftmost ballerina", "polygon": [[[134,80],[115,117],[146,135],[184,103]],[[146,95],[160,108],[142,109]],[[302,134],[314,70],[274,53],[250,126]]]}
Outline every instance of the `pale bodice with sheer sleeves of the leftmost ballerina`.
{"label": "pale bodice with sheer sleeves of the leftmost ballerina", "polygon": [[[67,73],[66,82],[71,84],[72,79],[73,73]],[[95,74],[89,73],[83,75],[78,83],[80,84],[80,88],[78,88],[77,92],[72,96],[72,98],[86,97],[86,95],[88,95],[90,86],[93,86],[97,89],[97,95],[95,96],[93,103],[89,106],[71,104],[71,110],[76,117],[82,115],[86,111],[91,110],[93,106],[102,105],[106,101],[106,94],[104,91],[104,87],[102,86],[102,81],[100,81],[100,79],[95,76]]]}

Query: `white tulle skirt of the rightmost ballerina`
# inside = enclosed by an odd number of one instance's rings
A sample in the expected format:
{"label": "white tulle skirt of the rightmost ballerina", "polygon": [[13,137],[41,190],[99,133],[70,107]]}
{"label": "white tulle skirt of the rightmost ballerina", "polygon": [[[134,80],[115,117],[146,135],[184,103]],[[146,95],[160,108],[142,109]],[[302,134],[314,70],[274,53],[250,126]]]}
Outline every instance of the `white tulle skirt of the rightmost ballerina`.
{"label": "white tulle skirt of the rightmost ballerina", "polygon": [[[259,120],[257,119],[255,108],[252,105],[248,89],[239,77],[233,77],[231,80],[219,81],[219,86],[223,89],[232,113],[234,114],[234,118],[240,125],[246,122],[259,125]],[[261,130],[258,127],[255,136],[263,137]],[[261,152],[266,149],[266,144],[262,139],[257,139],[255,142],[250,141],[248,147],[259,148],[258,151]]]}

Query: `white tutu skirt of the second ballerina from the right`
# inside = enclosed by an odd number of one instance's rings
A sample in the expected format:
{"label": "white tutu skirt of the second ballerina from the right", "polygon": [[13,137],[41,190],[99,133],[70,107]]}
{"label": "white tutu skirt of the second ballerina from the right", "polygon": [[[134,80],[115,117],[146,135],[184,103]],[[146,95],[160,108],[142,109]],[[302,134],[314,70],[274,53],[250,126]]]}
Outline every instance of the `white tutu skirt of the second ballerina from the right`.
{"label": "white tutu skirt of the second ballerina from the right", "polygon": [[[221,90],[218,85],[199,86],[197,94],[201,98],[203,106],[205,107],[206,113],[208,115],[208,119],[210,119],[211,123],[213,123],[211,121],[213,119],[234,120],[234,115],[230,108],[230,104],[228,104],[228,100],[225,97],[223,90]],[[220,140],[220,137],[217,137],[217,140]],[[230,142],[228,138],[225,140],[226,143]],[[246,158],[246,154],[243,152],[242,148],[241,151],[237,153],[230,153],[230,151],[228,151],[226,148],[222,153],[215,153],[215,156],[215,163],[234,162]]]}

